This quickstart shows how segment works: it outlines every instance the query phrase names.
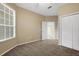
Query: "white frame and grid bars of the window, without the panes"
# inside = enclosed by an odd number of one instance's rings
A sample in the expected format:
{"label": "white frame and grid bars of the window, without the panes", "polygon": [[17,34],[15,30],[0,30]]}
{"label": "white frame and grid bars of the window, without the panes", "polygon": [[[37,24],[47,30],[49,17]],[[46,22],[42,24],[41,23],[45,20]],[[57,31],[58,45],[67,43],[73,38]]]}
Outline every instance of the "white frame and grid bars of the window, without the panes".
{"label": "white frame and grid bars of the window, without the panes", "polygon": [[[7,25],[5,24],[5,21],[6,21],[5,14],[7,14],[7,11],[5,11],[5,8],[7,8],[7,9],[9,9],[9,13],[8,13],[8,15],[9,15],[9,19],[8,19],[9,25],[8,25],[8,27],[10,27],[9,31],[11,31],[10,29],[11,29],[11,27],[13,27],[13,32],[9,32],[9,36],[11,35],[11,33],[13,33],[12,34],[13,36],[10,36],[10,37],[7,38],[6,37],[6,31],[5,31],[4,32],[5,34],[3,35],[5,37],[5,39],[0,40],[0,42],[3,42],[3,41],[10,40],[10,39],[13,39],[13,38],[16,37],[16,11],[14,9],[12,9],[10,6],[8,6],[7,4],[3,4],[3,3],[0,3],[0,4],[3,5],[3,8],[4,8],[3,10],[0,9],[0,11],[4,12],[4,17],[3,17],[4,24],[0,24],[0,26],[7,27]],[[12,12],[13,15],[11,15],[10,12]],[[10,20],[11,20],[10,17],[11,16],[13,17],[13,25],[10,24]],[[4,30],[6,30],[6,28],[4,28]]]}

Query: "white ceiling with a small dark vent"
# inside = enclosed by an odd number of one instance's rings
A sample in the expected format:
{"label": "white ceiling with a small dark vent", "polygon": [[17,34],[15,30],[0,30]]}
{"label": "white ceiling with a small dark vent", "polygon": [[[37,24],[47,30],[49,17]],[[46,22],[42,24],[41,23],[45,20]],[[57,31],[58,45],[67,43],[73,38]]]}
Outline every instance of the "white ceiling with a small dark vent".
{"label": "white ceiling with a small dark vent", "polygon": [[[19,7],[28,9],[32,12],[38,13],[43,16],[58,15],[58,8],[64,4],[63,3],[16,3],[16,5]],[[48,6],[52,6],[52,8],[48,9]]]}

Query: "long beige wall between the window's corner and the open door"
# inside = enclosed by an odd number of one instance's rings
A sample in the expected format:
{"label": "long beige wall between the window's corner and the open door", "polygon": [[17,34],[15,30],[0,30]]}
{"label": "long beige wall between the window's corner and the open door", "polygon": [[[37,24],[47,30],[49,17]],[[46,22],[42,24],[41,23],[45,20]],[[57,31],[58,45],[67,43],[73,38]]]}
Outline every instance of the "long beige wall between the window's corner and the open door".
{"label": "long beige wall between the window's corner and the open door", "polygon": [[41,40],[41,26],[44,16],[38,15],[23,8],[17,12],[17,40],[18,43]]}

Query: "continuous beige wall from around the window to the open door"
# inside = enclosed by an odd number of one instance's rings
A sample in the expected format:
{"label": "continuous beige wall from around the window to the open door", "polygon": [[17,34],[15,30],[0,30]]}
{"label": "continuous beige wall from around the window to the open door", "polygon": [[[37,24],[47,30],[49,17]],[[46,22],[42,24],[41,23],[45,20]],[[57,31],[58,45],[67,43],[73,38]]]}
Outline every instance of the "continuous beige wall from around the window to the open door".
{"label": "continuous beige wall from around the window to the open door", "polygon": [[16,11],[16,38],[0,42],[0,55],[18,44],[41,40],[41,23],[45,18],[14,3],[7,5]]}

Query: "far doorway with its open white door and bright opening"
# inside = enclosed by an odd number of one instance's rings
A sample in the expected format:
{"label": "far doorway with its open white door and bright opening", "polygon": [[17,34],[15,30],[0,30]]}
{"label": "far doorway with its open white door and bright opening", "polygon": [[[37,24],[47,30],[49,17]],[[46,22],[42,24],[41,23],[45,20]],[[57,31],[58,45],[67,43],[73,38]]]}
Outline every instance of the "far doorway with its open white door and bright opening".
{"label": "far doorway with its open white door and bright opening", "polygon": [[42,40],[56,39],[55,22],[43,21],[42,22]]}

